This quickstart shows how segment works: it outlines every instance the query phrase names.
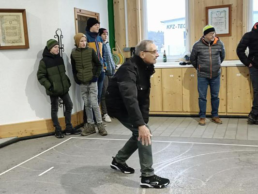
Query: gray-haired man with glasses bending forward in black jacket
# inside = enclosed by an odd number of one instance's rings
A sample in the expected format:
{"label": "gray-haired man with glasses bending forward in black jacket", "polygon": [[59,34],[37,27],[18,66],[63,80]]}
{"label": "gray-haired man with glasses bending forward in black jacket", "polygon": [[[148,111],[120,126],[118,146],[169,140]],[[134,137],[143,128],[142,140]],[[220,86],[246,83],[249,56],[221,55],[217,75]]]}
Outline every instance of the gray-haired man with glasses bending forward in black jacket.
{"label": "gray-haired man with glasses bending forward in black jacket", "polygon": [[110,167],[131,174],[135,170],[125,162],[138,149],[143,188],[162,188],[169,179],[154,174],[152,168],[151,131],[149,121],[151,75],[159,56],[152,40],[142,40],[136,46],[135,55],[126,61],[109,81],[106,91],[106,108],[111,117],[117,118],[133,134],[113,157]]}

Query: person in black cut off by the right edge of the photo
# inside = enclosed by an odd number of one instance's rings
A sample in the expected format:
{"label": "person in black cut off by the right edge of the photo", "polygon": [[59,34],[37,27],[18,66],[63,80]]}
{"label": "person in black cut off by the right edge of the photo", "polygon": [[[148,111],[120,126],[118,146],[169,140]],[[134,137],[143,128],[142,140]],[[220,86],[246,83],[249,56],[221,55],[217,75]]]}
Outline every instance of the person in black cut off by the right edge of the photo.
{"label": "person in black cut off by the right edge of the photo", "polygon": [[[248,56],[245,55],[249,48]],[[248,115],[248,124],[258,125],[258,22],[250,32],[246,32],[237,46],[237,56],[243,65],[249,68],[254,90],[252,110]]]}

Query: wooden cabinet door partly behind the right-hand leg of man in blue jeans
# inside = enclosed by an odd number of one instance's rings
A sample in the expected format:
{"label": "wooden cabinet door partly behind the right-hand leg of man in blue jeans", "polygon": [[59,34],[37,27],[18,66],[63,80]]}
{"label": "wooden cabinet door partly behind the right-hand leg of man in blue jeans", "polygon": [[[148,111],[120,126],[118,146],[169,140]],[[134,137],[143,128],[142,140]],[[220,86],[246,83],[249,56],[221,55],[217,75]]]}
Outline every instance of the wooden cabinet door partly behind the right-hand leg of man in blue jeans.
{"label": "wooden cabinet door partly behind the right-hand leg of man in blue jeans", "polygon": [[[227,75],[227,67],[222,67],[221,68],[221,77],[220,77],[220,89],[219,89],[219,113],[226,113],[226,111],[227,111],[227,107],[226,107],[226,97],[227,97],[226,75]],[[210,90],[210,86],[209,86],[208,92],[207,92],[206,113],[211,114],[211,112],[212,112],[211,90]]]}

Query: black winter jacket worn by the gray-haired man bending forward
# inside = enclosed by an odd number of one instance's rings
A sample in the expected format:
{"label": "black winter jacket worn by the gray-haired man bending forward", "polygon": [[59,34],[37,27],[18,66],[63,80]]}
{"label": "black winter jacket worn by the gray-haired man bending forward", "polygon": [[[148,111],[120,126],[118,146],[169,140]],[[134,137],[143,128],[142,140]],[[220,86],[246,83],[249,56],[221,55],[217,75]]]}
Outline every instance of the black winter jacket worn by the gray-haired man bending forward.
{"label": "black winter jacket worn by the gray-haired man bending forward", "polygon": [[133,127],[149,121],[151,75],[154,65],[147,65],[139,56],[125,62],[109,81],[106,108],[111,117],[130,119]]}

